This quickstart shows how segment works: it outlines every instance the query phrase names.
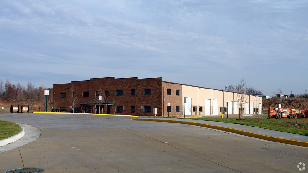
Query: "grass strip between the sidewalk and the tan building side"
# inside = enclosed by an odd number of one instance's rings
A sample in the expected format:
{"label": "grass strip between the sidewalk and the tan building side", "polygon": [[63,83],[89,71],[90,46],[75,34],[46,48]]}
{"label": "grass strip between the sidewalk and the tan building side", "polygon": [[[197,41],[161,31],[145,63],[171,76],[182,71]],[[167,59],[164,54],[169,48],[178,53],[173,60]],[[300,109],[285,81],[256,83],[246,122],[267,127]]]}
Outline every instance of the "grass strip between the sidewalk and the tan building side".
{"label": "grass strip between the sidewalk and the tan building side", "polygon": [[[172,117],[169,117],[172,118]],[[308,136],[308,118],[245,118],[246,120],[236,120],[236,118],[186,118],[205,121],[218,121],[225,123],[242,124],[246,126],[261,127],[281,132],[295,133]]]}

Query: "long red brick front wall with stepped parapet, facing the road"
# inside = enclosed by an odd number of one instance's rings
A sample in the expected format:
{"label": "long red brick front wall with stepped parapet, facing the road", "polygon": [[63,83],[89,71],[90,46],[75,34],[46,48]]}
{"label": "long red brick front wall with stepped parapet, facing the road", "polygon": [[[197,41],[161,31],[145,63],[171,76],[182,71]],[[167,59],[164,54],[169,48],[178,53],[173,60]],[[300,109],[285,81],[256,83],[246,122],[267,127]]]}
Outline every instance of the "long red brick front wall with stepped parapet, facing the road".
{"label": "long red brick front wall with stepped parapet, facing the road", "polygon": [[[115,79],[114,77],[109,77],[74,81],[71,84],[54,84],[54,104],[60,104],[60,107],[70,110],[68,93],[72,92],[71,86],[75,88],[76,96],[79,99],[78,104],[96,99],[95,91],[102,90],[104,95],[105,90],[107,90],[109,95],[106,98],[115,100],[116,106],[124,106],[123,112],[117,112],[116,114],[148,116],[153,114],[152,110],[151,112],[144,112],[144,106],[151,106],[152,109],[157,108],[158,113],[162,112],[162,78]],[[135,89],[135,95],[131,95],[131,89]],[[144,89],[151,89],[151,95],[144,95]],[[123,90],[123,95],[116,96],[116,90]],[[83,91],[89,91],[89,97],[82,97]],[[66,98],[60,98],[60,93],[62,92],[66,92]],[[135,106],[135,112],[131,112],[131,106]],[[141,106],[143,107],[142,109]],[[105,113],[105,110],[103,110],[103,113]],[[111,107],[110,114],[113,114],[113,107]]]}

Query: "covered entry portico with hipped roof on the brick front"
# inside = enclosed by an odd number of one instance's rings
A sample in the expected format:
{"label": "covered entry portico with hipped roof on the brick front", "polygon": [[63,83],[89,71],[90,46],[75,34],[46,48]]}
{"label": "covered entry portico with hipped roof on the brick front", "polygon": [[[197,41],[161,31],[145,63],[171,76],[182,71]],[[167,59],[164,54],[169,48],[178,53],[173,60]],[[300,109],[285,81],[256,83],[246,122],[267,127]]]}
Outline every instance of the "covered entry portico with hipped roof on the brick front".
{"label": "covered entry portico with hipped roof on the brick front", "polygon": [[93,99],[85,103],[80,103],[80,105],[84,113],[110,114],[113,101],[108,98],[104,98],[101,101],[99,99]]}

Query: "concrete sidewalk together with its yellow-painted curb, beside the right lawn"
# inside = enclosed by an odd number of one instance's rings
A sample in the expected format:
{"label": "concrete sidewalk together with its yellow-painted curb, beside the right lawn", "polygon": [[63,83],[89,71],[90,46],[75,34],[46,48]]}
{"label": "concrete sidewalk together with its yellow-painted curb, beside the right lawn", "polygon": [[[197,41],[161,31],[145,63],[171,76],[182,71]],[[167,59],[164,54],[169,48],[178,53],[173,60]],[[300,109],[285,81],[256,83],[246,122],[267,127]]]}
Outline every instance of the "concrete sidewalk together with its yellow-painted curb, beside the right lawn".
{"label": "concrete sidewalk together with its yellow-painted curb, beside the right lawn", "polygon": [[194,119],[174,119],[174,118],[140,118],[133,120],[143,121],[159,121],[169,123],[181,123],[197,125],[207,128],[213,128],[221,131],[237,133],[244,136],[255,137],[273,142],[280,142],[290,145],[298,145],[302,147],[308,147],[308,136],[298,135],[287,132],[279,132],[275,130],[269,130],[259,127],[245,126],[241,124],[223,123],[216,121],[204,121]]}

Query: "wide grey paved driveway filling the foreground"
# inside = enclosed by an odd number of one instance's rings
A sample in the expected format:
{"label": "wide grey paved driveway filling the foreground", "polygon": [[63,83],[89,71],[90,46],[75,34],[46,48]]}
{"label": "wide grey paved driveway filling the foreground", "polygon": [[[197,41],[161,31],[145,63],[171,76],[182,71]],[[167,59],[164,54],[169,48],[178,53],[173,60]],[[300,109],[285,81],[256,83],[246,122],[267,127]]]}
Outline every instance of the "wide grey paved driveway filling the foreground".
{"label": "wide grey paved driveway filling the foreground", "polygon": [[[295,172],[307,147],[192,125],[85,114],[0,114],[41,131],[0,153],[0,172]],[[26,135],[31,135],[27,134]],[[8,144],[11,145],[11,144]],[[1,149],[1,147],[0,147]]]}

